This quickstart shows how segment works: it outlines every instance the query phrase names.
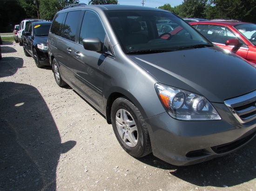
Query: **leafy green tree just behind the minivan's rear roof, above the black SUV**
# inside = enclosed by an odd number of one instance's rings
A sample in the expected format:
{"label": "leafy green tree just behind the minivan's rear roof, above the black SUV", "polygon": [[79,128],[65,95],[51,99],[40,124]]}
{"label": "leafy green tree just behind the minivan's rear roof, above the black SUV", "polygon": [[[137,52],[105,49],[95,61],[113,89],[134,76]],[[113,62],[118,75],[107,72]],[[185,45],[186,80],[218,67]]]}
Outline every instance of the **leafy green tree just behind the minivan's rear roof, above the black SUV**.
{"label": "leafy green tree just behind the minivan's rear roof, above the black SUV", "polygon": [[65,6],[77,3],[79,3],[79,0],[40,0],[40,18],[52,20],[55,13],[63,9]]}

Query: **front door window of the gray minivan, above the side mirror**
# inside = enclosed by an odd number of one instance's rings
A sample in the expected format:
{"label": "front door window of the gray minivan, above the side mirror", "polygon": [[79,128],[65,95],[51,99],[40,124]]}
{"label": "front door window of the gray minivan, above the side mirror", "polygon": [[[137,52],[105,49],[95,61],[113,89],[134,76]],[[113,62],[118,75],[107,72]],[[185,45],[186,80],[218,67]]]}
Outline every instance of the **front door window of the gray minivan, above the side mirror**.
{"label": "front door window of the gray minivan, above the side mirror", "polygon": [[84,38],[100,38],[101,42],[104,42],[105,35],[105,30],[98,15],[87,11],[81,26],[79,44],[83,44]]}

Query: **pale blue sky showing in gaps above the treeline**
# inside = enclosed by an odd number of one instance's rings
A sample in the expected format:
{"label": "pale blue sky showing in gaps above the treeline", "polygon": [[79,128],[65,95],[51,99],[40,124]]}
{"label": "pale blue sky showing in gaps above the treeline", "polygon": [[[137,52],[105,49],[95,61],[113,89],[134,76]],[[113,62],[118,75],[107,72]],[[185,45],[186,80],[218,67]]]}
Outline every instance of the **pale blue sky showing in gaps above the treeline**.
{"label": "pale blue sky showing in gaps above the treeline", "polygon": [[[89,0],[80,0],[80,3],[85,3],[88,5]],[[158,8],[164,4],[170,4],[172,7],[181,5],[183,0],[144,0],[144,6],[149,6],[153,8]],[[120,5],[135,5],[142,6],[142,0],[118,0]]]}

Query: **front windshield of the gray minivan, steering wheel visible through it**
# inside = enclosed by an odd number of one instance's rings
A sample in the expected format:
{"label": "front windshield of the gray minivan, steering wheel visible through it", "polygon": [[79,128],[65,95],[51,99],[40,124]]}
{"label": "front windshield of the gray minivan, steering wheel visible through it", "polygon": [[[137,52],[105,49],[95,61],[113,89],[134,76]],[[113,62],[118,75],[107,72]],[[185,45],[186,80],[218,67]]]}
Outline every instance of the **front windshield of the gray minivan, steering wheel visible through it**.
{"label": "front windshield of the gray minivan, steering wheel visible through it", "polygon": [[[107,11],[126,53],[147,54],[213,46],[189,24],[165,11]],[[164,23],[164,25],[163,25]]]}

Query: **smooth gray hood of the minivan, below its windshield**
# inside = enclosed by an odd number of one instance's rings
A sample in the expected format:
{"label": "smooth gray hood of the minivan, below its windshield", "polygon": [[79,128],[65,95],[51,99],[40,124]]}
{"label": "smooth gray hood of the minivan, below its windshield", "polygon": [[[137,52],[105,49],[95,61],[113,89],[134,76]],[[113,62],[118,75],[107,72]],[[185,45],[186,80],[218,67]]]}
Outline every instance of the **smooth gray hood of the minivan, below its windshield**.
{"label": "smooth gray hood of the minivan, below its windshield", "polygon": [[129,55],[160,83],[205,96],[210,102],[256,89],[256,68],[219,47]]}

